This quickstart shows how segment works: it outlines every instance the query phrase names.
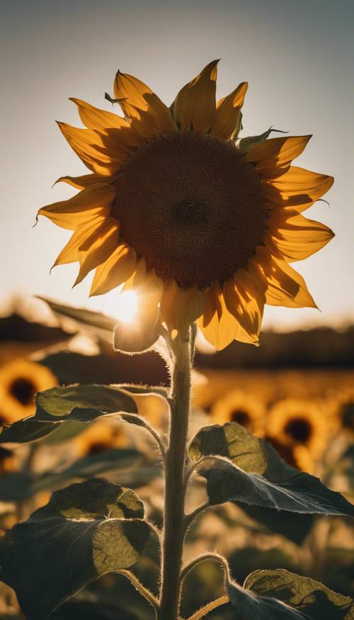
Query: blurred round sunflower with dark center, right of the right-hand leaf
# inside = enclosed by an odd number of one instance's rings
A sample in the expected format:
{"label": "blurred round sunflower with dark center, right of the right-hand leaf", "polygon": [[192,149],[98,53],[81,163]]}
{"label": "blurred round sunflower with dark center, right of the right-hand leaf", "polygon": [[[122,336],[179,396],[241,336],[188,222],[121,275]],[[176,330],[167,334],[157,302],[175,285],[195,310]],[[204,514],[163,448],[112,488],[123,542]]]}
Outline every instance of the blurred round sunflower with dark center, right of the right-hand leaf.
{"label": "blurred round sunflower with dark center, right of the right-hand leaf", "polygon": [[321,402],[286,398],[270,409],[265,439],[290,465],[312,471],[326,450],[331,429],[330,417],[326,417]]}

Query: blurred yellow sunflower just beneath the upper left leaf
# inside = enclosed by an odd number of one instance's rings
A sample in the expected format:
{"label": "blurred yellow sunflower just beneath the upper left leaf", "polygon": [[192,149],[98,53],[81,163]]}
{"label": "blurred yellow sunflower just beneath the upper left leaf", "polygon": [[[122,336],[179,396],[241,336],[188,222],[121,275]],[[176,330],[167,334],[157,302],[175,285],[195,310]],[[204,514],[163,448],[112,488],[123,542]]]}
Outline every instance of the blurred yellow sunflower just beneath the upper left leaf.
{"label": "blurred yellow sunflower just beneath the upper left leaf", "polygon": [[72,444],[76,456],[80,458],[112,448],[125,448],[129,439],[122,424],[102,419],[93,422],[83,433],[74,437]]}

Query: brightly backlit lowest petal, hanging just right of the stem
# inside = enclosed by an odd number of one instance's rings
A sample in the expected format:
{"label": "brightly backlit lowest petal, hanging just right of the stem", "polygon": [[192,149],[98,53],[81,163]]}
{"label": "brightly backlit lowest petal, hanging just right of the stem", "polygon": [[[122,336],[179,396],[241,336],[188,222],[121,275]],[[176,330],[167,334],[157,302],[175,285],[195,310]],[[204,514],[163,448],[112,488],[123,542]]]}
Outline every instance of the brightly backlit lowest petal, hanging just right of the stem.
{"label": "brightly backlit lowest petal, hanging just right of the stem", "polygon": [[198,320],[205,338],[219,351],[236,339],[256,344],[238,320],[227,309],[224,295],[218,283],[205,291],[205,312]]}

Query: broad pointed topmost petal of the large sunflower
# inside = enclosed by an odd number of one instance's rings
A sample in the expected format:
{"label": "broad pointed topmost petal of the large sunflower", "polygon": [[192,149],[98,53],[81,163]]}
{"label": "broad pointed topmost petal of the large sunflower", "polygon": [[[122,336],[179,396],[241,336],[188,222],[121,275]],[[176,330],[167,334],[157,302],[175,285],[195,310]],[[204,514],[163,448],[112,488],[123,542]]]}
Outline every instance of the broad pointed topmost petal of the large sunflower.
{"label": "broad pointed topmost petal of the large sunflower", "polygon": [[217,63],[213,60],[183,86],[173,103],[173,116],[182,131],[207,133],[215,119]]}

